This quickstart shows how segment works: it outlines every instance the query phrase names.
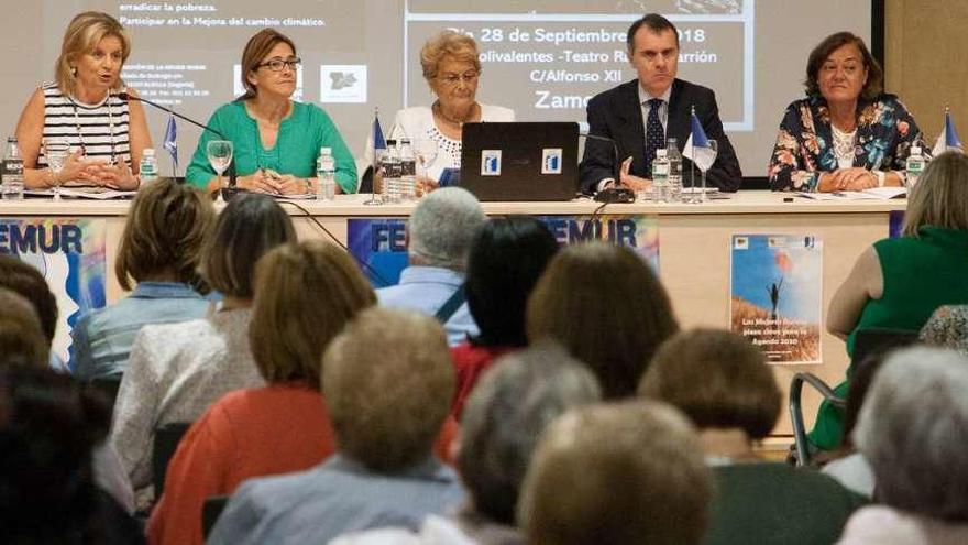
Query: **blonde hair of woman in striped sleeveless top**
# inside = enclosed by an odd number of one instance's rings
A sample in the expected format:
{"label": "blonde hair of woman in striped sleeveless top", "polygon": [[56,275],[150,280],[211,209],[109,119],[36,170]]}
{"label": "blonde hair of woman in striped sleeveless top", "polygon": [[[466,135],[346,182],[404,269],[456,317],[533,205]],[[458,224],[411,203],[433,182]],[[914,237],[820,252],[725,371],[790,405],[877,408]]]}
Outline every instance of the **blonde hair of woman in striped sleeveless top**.
{"label": "blonde hair of woman in striped sleeveless top", "polygon": [[[95,50],[98,43],[108,36],[114,36],[121,41],[121,65],[128,62],[131,55],[131,39],[128,31],[113,17],[101,11],[85,11],[78,13],[67,30],[64,31],[64,41],[61,43],[61,56],[54,68],[54,80],[57,88],[65,95],[74,95],[77,90],[75,77],[77,57]],[[114,90],[122,89],[124,81],[118,78]]]}

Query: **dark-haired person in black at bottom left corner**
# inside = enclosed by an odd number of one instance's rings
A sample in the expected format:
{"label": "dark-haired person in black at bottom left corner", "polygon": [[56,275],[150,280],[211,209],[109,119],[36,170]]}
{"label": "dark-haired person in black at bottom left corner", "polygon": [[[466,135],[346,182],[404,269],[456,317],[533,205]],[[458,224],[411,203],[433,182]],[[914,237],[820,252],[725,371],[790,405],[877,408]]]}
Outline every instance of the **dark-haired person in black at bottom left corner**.
{"label": "dark-haired person in black at bottom left corner", "polygon": [[[40,327],[33,340],[43,345]],[[30,359],[10,348],[0,347],[0,360]],[[140,524],[94,482],[91,449],[110,414],[69,377],[0,366],[0,543],[143,543]]]}

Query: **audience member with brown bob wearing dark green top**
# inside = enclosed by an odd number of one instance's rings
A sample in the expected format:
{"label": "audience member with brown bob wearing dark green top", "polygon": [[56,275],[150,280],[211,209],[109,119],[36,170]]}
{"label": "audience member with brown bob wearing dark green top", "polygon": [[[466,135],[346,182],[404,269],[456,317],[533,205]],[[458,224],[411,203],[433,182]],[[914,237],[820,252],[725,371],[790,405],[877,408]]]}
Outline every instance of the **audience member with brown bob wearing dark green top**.
{"label": "audience member with brown bob wearing dark green top", "polygon": [[704,543],[832,543],[862,499],[834,479],[752,449],[780,416],[781,394],[760,349],[739,335],[694,329],[659,348],[639,392],[698,427],[717,494]]}

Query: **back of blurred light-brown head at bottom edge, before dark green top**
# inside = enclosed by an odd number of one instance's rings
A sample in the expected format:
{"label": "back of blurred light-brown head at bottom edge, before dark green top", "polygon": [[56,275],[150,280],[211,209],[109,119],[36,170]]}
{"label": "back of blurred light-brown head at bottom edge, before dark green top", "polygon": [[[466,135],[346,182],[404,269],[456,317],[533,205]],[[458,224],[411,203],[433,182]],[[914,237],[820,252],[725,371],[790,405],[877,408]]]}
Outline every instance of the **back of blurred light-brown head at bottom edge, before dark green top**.
{"label": "back of blurred light-brown head at bottom edge, before dark green top", "polygon": [[697,544],[712,487],[679,411],[641,400],[593,405],[544,430],[518,514],[535,545]]}

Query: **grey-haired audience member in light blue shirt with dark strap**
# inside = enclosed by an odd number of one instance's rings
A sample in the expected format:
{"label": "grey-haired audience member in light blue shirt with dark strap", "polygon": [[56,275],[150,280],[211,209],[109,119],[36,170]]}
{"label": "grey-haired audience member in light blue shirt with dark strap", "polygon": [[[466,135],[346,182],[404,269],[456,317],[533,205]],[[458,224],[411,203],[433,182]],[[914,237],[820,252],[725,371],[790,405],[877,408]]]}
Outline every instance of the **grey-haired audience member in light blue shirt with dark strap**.
{"label": "grey-haired audience member in light blue shirt with dark strap", "polygon": [[427,195],[407,222],[409,266],[398,285],[376,291],[380,304],[436,316],[450,345],[477,335],[464,303],[464,270],[471,242],[486,221],[481,204],[464,189]]}

